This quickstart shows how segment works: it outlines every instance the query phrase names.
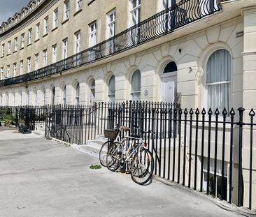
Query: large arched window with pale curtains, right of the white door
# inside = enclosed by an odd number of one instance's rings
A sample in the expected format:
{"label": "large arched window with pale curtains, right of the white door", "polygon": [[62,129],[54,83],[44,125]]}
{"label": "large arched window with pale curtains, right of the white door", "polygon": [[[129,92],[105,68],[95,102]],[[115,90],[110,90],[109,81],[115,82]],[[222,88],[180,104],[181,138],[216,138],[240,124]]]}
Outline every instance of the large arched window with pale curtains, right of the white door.
{"label": "large arched window with pale curtains, right of the white door", "polygon": [[229,111],[231,84],[231,56],[227,50],[220,49],[211,54],[206,66],[206,87],[208,107],[224,108]]}

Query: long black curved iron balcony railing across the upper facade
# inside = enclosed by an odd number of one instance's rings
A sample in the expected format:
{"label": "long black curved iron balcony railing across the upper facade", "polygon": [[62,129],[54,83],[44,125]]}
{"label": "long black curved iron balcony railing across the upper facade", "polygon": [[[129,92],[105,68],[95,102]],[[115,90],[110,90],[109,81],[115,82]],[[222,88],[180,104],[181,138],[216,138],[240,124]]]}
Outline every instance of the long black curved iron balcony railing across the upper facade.
{"label": "long black curved iron balcony railing across the upper facade", "polygon": [[0,87],[37,80],[61,73],[71,68],[118,54],[155,38],[166,35],[203,17],[221,10],[220,0],[182,0],[171,8],[149,17],[147,20],[83,50],[71,57],[52,63],[31,73],[0,81]]}

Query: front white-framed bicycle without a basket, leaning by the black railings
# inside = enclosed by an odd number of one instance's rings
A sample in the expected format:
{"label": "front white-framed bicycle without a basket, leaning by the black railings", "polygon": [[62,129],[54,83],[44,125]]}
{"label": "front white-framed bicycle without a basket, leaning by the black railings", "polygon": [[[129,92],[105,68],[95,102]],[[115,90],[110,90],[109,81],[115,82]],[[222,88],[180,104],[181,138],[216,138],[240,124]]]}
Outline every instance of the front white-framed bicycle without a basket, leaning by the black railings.
{"label": "front white-framed bicycle without a basket, leaning by the black railings", "polygon": [[[126,171],[130,167],[131,179],[136,184],[143,185],[152,178],[154,158],[151,152],[146,149],[146,143],[142,137],[144,133],[154,133],[149,130],[147,132],[141,132],[140,137],[134,137],[127,135],[128,131],[129,128],[125,127],[125,137],[122,140],[120,140],[120,137],[117,137],[111,147],[109,147],[106,156],[106,165],[108,170],[116,171],[120,166],[126,164]],[[138,142],[136,143],[135,141]]]}

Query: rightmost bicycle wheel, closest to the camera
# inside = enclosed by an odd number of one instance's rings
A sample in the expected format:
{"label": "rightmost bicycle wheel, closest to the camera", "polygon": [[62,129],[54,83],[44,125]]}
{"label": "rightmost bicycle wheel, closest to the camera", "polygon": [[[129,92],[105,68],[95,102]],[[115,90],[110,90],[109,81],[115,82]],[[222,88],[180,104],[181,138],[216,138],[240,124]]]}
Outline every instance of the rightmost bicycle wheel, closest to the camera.
{"label": "rightmost bicycle wheel, closest to the camera", "polygon": [[131,179],[139,185],[146,184],[154,172],[154,158],[148,149],[141,149],[131,161]]}

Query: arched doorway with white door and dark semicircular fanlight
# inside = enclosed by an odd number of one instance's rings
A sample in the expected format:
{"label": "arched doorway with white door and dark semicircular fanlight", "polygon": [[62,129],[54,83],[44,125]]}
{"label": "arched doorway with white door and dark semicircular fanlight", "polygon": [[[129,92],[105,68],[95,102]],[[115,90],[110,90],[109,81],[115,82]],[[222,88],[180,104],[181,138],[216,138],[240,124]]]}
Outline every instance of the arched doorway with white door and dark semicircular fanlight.
{"label": "arched doorway with white door and dark semicircular fanlight", "polygon": [[177,95],[177,65],[174,61],[165,66],[161,79],[162,102],[174,103]]}

